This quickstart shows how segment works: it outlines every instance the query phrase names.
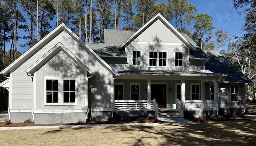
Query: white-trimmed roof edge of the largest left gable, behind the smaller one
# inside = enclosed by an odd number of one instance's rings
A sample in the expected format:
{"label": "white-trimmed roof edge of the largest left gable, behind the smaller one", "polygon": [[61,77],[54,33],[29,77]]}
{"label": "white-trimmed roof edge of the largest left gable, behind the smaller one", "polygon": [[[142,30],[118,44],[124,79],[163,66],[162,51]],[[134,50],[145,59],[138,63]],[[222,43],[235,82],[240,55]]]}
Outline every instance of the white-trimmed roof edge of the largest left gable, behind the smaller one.
{"label": "white-trimmed roof edge of the largest left gable, behind the smaller one", "polygon": [[46,43],[48,43],[50,40],[52,40],[57,34],[59,34],[62,31],[66,31],[76,42],[78,42],[84,49],[88,51],[102,66],[104,66],[109,72],[114,74],[115,76],[118,76],[118,73],[114,71],[98,54],[96,54],[87,44],[85,44],[72,30],[70,30],[64,23],[60,24],[54,30],[52,30],[47,36],[42,38],[38,43],[36,43],[33,47],[31,47],[29,50],[27,50],[22,56],[20,56],[17,60],[12,62],[9,66],[7,66],[0,74],[9,75],[10,71],[14,68],[17,68],[22,64],[24,61],[27,60],[27,58],[30,58],[35,52],[37,52],[42,46],[44,46]]}

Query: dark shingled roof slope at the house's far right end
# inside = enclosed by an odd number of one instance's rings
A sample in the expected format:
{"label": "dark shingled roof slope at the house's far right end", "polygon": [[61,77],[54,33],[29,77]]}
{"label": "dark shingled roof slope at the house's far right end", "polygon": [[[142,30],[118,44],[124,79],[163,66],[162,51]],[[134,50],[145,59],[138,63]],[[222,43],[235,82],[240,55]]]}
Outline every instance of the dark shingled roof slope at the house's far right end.
{"label": "dark shingled roof slope at the house's far right end", "polygon": [[204,50],[211,60],[205,63],[205,69],[226,74],[219,82],[252,82],[246,75],[234,68],[233,64],[216,50]]}

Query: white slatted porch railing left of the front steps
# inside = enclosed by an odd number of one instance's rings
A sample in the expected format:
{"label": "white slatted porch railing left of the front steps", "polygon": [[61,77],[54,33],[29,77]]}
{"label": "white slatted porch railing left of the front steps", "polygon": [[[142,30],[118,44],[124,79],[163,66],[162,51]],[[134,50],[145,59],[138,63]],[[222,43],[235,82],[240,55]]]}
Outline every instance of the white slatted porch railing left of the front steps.
{"label": "white slatted porch railing left of the front steps", "polygon": [[[153,106],[151,100],[151,107]],[[150,110],[148,109],[148,100],[114,100],[115,110],[132,111],[132,110]]]}

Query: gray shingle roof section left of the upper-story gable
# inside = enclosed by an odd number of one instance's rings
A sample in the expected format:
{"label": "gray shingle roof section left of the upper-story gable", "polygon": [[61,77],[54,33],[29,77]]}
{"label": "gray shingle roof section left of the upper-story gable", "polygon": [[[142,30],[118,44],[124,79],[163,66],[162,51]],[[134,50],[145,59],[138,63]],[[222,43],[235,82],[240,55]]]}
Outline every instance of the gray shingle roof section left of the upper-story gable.
{"label": "gray shingle roof section left of the upper-story gable", "polygon": [[129,30],[104,30],[105,43],[86,43],[99,56],[126,57],[125,51],[120,51],[119,46],[125,42],[135,31]]}

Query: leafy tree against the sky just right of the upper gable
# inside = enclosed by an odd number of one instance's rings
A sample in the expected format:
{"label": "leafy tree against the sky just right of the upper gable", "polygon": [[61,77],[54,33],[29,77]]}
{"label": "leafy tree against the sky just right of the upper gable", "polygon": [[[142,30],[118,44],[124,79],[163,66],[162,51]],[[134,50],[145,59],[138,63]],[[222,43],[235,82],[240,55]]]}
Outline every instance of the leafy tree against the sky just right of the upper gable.
{"label": "leafy tree against the sky just right of the upper gable", "polygon": [[196,14],[194,17],[194,36],[198,42],[198,46],[203,48],[203,42],[206,41],[206,38],[212,35],[213,27],[213,18],[208,14]]}

